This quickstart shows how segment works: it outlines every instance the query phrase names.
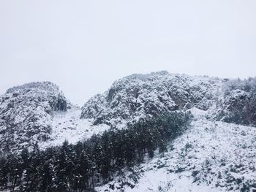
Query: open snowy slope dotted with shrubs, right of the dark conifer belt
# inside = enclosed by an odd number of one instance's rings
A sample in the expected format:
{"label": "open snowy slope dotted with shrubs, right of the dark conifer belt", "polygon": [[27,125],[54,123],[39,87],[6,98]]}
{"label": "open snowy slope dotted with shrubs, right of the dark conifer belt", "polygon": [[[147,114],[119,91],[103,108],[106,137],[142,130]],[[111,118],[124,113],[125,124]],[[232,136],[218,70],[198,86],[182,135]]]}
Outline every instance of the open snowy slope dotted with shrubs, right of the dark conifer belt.
{"label": "open snowy slope dotted with shrubs, right of the dark conifer belt", "polygon": [[201,110],[192,113],[192,127],[172,150],[97,191],[256,191],[256,128],[207,120]]}

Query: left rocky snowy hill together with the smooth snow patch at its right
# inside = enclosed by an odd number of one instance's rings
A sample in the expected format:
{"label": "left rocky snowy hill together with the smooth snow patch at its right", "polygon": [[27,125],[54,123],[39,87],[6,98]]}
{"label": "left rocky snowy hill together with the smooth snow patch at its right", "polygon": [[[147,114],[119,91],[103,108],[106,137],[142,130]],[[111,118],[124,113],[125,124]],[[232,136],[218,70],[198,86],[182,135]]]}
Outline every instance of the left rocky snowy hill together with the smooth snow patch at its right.
{"label": "left rocky snowy hill together with the smooth snow patch at its right", "polygon": [[16,86],[0,96],[0,150],[4,152],[61,145],[65,139],[78,142],[105,128],[94,131],[88,120],[80,120],[80,108],[52,82]]}

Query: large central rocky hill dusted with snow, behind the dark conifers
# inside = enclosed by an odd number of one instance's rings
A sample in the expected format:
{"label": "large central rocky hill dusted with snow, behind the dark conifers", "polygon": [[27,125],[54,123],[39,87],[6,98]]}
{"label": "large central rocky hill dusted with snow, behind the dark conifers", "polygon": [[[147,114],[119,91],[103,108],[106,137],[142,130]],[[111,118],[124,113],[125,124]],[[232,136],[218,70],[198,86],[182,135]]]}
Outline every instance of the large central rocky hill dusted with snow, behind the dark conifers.
{"label": "large central rocky hill dusted with snow, behind the dark conifers", "polygon": [[94,118],[94,124],[116,126],[173,110],[192,107],[208,110],[216,103],[221,87],[222,80],[206,76],[168,72],[132,74],[87,101],[81,118]]}

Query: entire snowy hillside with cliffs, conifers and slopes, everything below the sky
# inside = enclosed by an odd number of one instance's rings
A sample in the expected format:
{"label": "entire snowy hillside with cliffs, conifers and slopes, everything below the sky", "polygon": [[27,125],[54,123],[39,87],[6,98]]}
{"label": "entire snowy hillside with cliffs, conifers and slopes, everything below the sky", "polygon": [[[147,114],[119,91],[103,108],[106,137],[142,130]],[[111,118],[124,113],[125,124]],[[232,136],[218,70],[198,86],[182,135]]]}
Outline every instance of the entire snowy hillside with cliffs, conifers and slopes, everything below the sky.
{"label": "entire snowy hillside with cliffs, conifers and slopes, everything below the sky", "polygon": [[132,74],[82,108],[31,82],[0,96],[0,191],[256,191],[255,126],[251,77]]}

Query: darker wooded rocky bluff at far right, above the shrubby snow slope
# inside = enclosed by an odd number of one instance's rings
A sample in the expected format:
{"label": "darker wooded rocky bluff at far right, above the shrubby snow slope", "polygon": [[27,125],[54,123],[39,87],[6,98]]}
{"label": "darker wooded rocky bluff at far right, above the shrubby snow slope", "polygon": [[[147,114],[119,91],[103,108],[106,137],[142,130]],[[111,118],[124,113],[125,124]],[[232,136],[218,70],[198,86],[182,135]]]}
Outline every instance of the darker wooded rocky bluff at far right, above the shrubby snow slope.
{"label": "darker wooded rocky bluff at far right, above the shrubby snow slope", "polygon": [[227,123],[256,126],[256,78],[228,80],[217,104],[217,119]]}

